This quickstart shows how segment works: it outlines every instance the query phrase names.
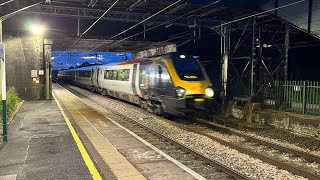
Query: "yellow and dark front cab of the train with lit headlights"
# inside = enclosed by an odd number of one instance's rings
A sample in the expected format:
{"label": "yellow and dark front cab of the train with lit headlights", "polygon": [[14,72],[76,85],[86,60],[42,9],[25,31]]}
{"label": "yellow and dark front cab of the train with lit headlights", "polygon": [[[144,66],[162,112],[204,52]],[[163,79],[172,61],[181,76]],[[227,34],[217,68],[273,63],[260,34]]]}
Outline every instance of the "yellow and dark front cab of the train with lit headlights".
{"label": "yellow and dark front cab of the train with lit headlights", "polygon": [[176,116],[205,109],[214,95],[198,60],[179,53],[156,57],[153,63],[142,63],[139,82],[142,96],[151,102],[161,102],[163,112]]}

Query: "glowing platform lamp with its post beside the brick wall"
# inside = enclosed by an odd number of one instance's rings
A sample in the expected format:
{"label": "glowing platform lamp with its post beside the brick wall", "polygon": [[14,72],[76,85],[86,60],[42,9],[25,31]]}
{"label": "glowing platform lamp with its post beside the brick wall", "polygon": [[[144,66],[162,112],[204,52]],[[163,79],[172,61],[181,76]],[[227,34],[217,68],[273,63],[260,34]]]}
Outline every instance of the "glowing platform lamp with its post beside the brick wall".
{"label": "glowing platform lamp with its post beside the brick wall", "polygon": [[42,37],[42,67],[45,72],[45,99],[51,99],[51,91],[50,91],[50,68],[46,62],[46,54],[45,54],[45,45],[48,44],[47,40],[44,38],[44,34],[46,32],[46,27],[44,25],[39,24],[28,24],[27,29],[29,29],[33,34],[39,35]]}

